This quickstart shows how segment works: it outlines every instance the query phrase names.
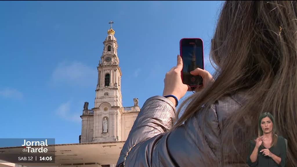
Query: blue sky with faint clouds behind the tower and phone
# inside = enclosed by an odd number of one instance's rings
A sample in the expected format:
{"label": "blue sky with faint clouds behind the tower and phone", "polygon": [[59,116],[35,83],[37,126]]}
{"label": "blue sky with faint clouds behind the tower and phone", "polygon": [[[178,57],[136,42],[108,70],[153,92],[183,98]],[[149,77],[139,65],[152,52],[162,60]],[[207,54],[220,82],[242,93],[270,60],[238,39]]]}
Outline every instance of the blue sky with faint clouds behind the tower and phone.
{"label": "blue sky with faint clouds behind the tower and phone", "polygon": [[[210,40],[222,1],[1,1],[1,138],[78,143],[83,104],[94,107],[97,65],[113,20],[123,105],[162,95],[179,40]],[[187,93],[188,95],[189,93]]]}

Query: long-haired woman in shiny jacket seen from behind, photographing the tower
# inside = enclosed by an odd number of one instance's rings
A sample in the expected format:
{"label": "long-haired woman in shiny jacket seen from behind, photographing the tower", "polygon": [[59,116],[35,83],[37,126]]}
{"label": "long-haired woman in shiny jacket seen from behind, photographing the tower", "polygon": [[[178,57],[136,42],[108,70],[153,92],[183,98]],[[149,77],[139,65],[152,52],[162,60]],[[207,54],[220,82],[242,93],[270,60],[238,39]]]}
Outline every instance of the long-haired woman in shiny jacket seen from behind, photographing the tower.
{"label": "long-haired woman in shiny jacket seen from behind, photographing the tower", "polygon": [[247,166],[254,122],[266,111],[290,145],[287,165],[297,164],[296,12],[296,1],[225,1],[211,41],[216,73],[194,70],[203,89],[176,112],[188,90],[178,56],[163,96],[144,103],[117,166]]}

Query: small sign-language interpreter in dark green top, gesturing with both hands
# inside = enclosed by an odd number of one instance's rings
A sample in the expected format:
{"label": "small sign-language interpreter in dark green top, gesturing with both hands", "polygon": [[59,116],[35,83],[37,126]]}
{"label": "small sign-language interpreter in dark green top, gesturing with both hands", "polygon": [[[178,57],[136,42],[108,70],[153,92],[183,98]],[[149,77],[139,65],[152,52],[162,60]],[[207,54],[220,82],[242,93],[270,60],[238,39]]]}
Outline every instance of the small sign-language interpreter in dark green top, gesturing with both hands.
{"label": "small sign-language interpreter in dark green top, gesturing with both hands", "polygon": [[276,134],[274,117],[266,112],[258,120],[258,137],[250,141],[249,166],[284,167],[286,165],[287,146],[282,136]]}

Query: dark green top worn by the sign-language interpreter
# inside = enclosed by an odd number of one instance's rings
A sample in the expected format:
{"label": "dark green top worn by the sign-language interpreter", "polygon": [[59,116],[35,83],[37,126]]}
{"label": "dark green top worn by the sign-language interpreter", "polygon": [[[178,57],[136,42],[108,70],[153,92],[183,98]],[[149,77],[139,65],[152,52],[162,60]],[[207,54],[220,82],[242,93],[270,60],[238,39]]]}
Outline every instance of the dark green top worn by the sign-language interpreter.
{"label": "dark green top worn by the sign-language interpreter", "polygon": [[282,136],[277,137],[277,144],[275,146],[272,146],[269,148],[269,151],[282,158],[281,162],[277,164],[271,157],[268,155],[263,155],[263,152],[260,152],[262,149],[266,149],[263,145],[261,145],[258,149],[258,157],[255,162],[252,163],[250,156],[255,148],[255,141],[251,140],[249,146],[249,156],[247,157],[247,164],[249,166],[257,166],[257,167],[285,167],[286,164],[286,158],[287,158],[287,148],[285,139]]}

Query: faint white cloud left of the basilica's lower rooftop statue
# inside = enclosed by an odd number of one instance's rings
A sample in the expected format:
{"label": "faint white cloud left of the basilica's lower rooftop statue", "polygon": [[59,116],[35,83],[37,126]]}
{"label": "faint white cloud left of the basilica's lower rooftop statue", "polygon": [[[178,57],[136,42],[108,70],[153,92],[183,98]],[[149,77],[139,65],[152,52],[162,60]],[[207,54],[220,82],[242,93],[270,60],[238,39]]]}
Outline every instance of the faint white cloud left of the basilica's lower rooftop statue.
{"label": "faint white cloud left of the basilica's lower rooftop statue", "polygon": [[66,103],[62,103],[56,110],[56,114],[58,114],[62,119],[66,119],[68,121],[80,122],[80,114],[74,113],[71,110],[71,102],[67,101]]}

